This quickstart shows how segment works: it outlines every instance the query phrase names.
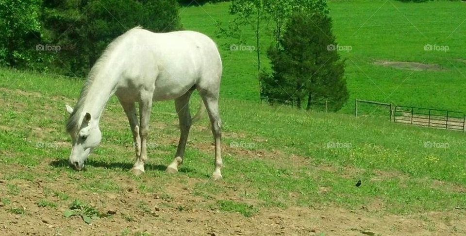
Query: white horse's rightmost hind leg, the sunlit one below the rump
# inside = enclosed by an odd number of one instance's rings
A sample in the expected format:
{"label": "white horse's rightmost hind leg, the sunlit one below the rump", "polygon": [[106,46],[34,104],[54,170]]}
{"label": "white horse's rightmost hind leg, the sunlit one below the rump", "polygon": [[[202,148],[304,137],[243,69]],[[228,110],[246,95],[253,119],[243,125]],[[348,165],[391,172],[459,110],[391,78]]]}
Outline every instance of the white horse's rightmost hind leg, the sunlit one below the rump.
{"label": "white horse's rightmost hind leg, the sunlit one below the rump", "polygon": [[209,114],[209,119],[212,125],[212,134],[215,139],[215,170],[212,174],[212,179],[222,179],[221,169],[223,166],[222,154],[220,147],[220,139],[222,137],[222,122],[220,120],[220,114],[218,113],[218,93],[211,93],[206,90],[200,90],[200,96],[204,101],[205,107]]}

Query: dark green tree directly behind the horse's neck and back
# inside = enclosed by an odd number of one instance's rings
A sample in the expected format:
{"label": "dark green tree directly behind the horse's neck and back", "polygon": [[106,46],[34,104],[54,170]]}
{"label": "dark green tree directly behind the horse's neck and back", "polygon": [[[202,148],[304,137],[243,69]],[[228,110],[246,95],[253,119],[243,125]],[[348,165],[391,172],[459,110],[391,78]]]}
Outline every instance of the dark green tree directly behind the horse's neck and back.
{"label": "dark green tree directly behind the horse's neck and back", "polygon": [[181,29],[176,0],[45,0],[43,22],[62,50],[59,73],[85,76],[107,45],[135,26],[154,32]]}

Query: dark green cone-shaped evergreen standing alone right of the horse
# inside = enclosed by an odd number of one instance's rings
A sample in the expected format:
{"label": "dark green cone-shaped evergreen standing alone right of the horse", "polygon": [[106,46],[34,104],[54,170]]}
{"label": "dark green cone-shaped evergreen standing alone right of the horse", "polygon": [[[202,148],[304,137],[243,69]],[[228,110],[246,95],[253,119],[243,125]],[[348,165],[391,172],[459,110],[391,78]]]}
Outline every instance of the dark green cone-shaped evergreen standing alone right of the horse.
{"label": "dark green cone-shaped evergreen standing alone right of the horse", "polygon": [[332,20],[322,12],[292,15],[278,47],[267,52],[271,74],[261,77],[262,96],[268,101],[311,109],[322,100],[340,109],[348,99],[344,62],[335,50]]}

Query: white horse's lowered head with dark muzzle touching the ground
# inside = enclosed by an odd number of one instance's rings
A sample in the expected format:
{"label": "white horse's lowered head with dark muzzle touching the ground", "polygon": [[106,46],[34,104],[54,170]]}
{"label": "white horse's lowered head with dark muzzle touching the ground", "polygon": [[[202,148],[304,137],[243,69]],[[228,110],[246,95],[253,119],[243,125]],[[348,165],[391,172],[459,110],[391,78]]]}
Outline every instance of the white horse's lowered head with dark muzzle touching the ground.
{"label": "white horse's lowered head with dark muzzle touching the ground", "polygon": [[67,132],[71,136],[73,145],[69,155],[69,163],[75,169],[81,170],[87,157],[99,145],[102,138],[99,120],[91,118],[91,114],[87,112],[77,114],[73,112],[72,107],[66,106],[67,112],[70,114]]}

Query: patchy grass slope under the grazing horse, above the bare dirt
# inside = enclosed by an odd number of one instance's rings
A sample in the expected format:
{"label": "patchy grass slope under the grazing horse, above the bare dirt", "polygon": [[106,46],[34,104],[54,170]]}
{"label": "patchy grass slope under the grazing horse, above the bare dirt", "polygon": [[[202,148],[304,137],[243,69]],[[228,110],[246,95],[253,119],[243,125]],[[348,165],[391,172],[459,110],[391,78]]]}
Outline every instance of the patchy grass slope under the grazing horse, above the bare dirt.
{"label": "patchy grass slope under the grazing horse, above the bare dirt", "polygon": [[[421,228],[431,233],[465,233],[464,224],[452,223],[462,219],[456,207],[466,205],[464,133],[300,112],[225,97],[220,104],[225,180],[212,182],[208,176],[213,169],[213,146],[207,119],[193,127],[180,173],[171,176],[164,172],[179,133],[173,102],[160,102],[152,112],[147,173],[134,177],[127,172],[134,160],[131,133],[114,98],[100,123],[102,143],[89,157],[86,171],[77,172],[67,167],[70,138],[64,132],[64,104],[74,104],[82,84],[68,78],[0,70],[0,212],[7,219],[19,215],[27,222],[36,219],[35,214],[57,215],[62,226],[56,232],[68,234],[74,232],[67,227],[70,222],[85,225],[60,217],[74,199],[103,211],[121,204],[119,197],[97,200],[95,196],[121,197],[137,191],[137,196],[125,197],[127,202],[117,208],[121,215],[112,221],[96,219],[97,224],[116,233],[128,231],[125,227],[135,232],[131,227],[139,219],[162,224],[170,222],[172,214],[177,219],[197,219],[197,215],[186,215],[196,211],[223,212],[220,218],[237,217],[228,212],[239,212],[241,221],[268,209],[325,211],[338,207],[359,217],[401,214],[427,223]],[[193,103],[196,100],[199,98]],[[357,180],[362,182],[360,187],[354,186]],[[158,196],[155,200],[154,195]],[[37,206],[44,204],[53,207]],[[158,219],[146,207],[154,204],[160,211]],[[450,226],[436,228],[444,221],[424,215],[432,211],[448,215],[445,222]],[[305,223],[305,227],[311,226]],[[389,234],[404,232],[402,224],[393,227]],[[84,232],[92,229],[97,230],[90,227]],[[152,227],[149,232],[161,232],[157,230]],[[329,231],[322,228],[318,232]]]}

